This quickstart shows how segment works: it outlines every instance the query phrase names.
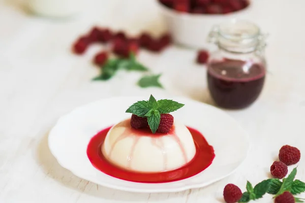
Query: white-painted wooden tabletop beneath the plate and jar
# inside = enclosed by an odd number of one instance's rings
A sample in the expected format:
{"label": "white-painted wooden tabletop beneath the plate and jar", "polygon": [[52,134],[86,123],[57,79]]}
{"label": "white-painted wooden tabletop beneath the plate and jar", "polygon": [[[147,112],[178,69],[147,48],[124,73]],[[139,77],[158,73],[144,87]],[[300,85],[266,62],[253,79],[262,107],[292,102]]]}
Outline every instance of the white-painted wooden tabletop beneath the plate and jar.
{"label": "white-painted wooden tabletop beneath the plate and jar", "polygon": [[[250,133],[251,152],[230,177],[201,189],[137,194],[79,179],[61,167],[47,146],[48,131],[61,115],[96,99],[116,95],[183,95],[210,103],[203,66],[195,51],[170,47],[160,55],[142,51],[139,59],[163,73],[165,90],[141,89],[138,74],[119,73],[109,82],[91,82],[98,71],[90,60],[70,52],[71,43],[92,25],[162,32],[154,0],[94,1],[90,12],[70,21],[28,15],[22,1],[0,1],[0,202],[223,202],[226,184],[245,190],[269,177],[269,167],[284,144],[305,153],[305,2],[254,0],[253,19],[270,33],[266,50],[269,74],[256,103],[227,111]],[[250,14],[249,14],[250,15]],[[188,77],[193,80],[188,80]],[[237,141],[238,142],[238,141]],[[304,158],[297,178],[305,181]],[[289,167],[291,171],[292,167]],[[305,197],[305,195],[299,195]],[[266,195],[261,201],[271,202]]]}

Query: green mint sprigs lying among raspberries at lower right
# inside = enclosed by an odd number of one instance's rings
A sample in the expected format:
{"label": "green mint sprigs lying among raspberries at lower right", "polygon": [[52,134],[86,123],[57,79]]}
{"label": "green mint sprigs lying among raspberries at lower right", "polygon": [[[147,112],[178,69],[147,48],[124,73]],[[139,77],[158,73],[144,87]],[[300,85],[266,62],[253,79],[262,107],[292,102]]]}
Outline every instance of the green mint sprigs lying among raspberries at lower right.
{"label": "green mint sprigs lying among raspberries at lower right", "polygon": [[[247,182],[247,192],[242,194],[241,199],[238,202],[249,202],[250,200],[256,200],[262,198],[265,193],[273,194],[275,197],[283,194],[285,191],[290,192],[293,195],[305,192],[305,183],[300,180],[294,180],[297,173],[297,169],[294,168],[287,178],[283,181],[279,179],[267,179],[258,183],[254,188],[252,184]],[[302,198],[294,197],[296,202],[304,202]]]}

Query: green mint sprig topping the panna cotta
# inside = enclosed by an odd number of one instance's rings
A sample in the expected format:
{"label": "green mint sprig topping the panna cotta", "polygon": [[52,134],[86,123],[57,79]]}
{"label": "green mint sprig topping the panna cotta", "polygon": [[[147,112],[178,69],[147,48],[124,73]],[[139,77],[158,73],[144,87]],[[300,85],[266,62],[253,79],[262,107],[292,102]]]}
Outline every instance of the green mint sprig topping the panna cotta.
{"label": "green mint sprig topping the panna cotta", "polygon": [[177,111],[183,106],[184,104],[170,99],[157,101],[153,95],[150,95],[149,100],[137,101],[126,110],[126,113],[146,117],[151,132],[156,133],[160,124],[161,114]]}

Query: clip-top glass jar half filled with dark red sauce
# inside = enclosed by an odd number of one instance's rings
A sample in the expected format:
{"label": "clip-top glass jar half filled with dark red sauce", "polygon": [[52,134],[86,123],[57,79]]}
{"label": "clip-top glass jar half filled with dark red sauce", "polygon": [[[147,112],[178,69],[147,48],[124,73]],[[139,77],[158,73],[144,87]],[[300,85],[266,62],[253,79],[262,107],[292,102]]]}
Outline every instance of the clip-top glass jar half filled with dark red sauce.
{"label": "clip-top glass jar half filled with dark red sauce", "polygon": [[232,20],[215,26],[208,40],[218,46],[207,64],[208,89],[215,103],[225,109],[250,106],[265,81],[265,38],[252,22]]}

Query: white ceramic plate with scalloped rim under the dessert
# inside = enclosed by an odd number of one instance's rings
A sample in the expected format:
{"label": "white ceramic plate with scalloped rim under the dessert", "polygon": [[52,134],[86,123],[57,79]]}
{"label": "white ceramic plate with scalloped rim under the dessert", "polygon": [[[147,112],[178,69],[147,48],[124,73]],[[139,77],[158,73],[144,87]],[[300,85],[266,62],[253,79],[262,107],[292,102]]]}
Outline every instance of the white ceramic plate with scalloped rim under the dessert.
{"label": "white ceramic plate with scalloped rim under the dessert", "polygon": [[[49,133],[48,143],[60,165],[74,175],[96,184],[132,192],[178,192],[207,186],[230,174],[246,159],[248,134],[223,111],[187,98],[171,98],[185,106],[172,113],[176,120],[203,133],[216,157],[200,174],[170,183],[135,183],[108,176],[97,170],[86,154],[90,139],[100,130],[130,117],[125,113],[139,97],[102,99],[63,116]],[[156,98],[162,99],[162,98]]]}

